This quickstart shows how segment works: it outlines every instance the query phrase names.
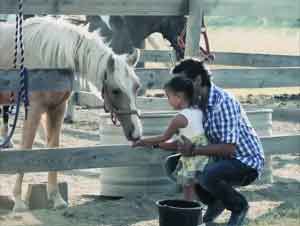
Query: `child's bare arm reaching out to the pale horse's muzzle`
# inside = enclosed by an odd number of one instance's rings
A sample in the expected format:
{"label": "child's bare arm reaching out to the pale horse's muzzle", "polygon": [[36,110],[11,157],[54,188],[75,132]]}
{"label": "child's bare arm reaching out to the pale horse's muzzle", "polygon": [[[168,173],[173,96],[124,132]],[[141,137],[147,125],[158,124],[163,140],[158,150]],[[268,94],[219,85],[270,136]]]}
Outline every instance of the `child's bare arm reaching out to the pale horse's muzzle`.
{"label": "child's bare arm reaching out to the pale horse's muzzle", "polygon": [[187,124],[187,119],[183,115],[178,114],[171,120],[168,128],[163,134],[140,139],[136,143],[134,143],[133,146],[150,146],[165,142],[169,140],[174,134],[176,134],[180,128],[185,128]]}

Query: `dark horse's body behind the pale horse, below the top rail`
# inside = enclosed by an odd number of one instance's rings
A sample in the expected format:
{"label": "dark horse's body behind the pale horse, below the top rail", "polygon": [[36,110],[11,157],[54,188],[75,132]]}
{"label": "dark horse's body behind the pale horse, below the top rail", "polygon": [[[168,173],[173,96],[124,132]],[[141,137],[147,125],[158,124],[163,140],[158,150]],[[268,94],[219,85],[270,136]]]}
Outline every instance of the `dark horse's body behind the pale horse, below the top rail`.
{"label": "dark horse's body behind the pale horse, below the top rail", "polygon": [[184,16],[110,16],[111,47],[116,53],[131,53],[142,48],[143,41],[159,32],[176,51],[177,60],[184,57],[186,17]]}

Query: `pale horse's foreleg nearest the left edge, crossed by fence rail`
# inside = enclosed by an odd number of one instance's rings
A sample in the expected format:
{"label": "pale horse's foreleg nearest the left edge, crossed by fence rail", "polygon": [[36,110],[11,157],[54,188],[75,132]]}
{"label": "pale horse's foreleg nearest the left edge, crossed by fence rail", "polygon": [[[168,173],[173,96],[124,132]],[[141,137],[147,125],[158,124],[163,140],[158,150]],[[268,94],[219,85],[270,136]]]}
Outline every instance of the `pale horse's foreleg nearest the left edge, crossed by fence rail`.
{"label": "pale horse's foreleg nearest the left edge, crossed by fence rail", "polygon": [[[22,143],[21,148],[31,149],[35,138],[36,130],[39,125],[41,118],[41,111],[37,106],[31,106],[28,112],[27,120],[24,121],[23,132],[22,132]],[[22,200],[22,181],[24,173],[17,175],[16,183],[13,189],[13,196],[15,205],[13,208],[14,212],[21,212],[27,210],[27,206]]]}

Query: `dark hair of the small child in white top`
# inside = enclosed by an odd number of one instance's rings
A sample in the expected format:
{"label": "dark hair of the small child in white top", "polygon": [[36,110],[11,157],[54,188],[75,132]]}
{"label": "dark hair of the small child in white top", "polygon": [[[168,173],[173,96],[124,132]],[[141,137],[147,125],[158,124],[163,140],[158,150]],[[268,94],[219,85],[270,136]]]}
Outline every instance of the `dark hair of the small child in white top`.
{"label": "dark hair of the small child in white top", "polygon": [[168,81],[165,86],[165,90],[171,90],[172,92],[182,92],[192,105],[194,98],[194,86],[193,81],[189,78],[183,76],[175,76],[170,81]]}

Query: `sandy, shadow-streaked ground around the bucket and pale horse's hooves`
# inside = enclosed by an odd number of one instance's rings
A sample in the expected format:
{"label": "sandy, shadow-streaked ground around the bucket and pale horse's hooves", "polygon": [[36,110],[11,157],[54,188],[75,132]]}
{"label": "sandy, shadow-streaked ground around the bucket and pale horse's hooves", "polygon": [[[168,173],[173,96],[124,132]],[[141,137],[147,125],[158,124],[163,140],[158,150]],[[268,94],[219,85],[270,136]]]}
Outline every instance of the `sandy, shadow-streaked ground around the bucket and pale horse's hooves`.
{"label": "sandy, shadow-streaked ground around the bucket and pale horse's hooves", "polygon": [[[64,125],[63,146],[91,146],[99,144],[98,117],[99,110],[76,110],[76,123]],[[273,123],[275,134],[299,133],[300,122]],[[19,128],[15,143],[19,142]],[[43,144],[37,138],[36,147]],[[288,225],[300,222],[300,155],[280,155],[273,158],[273,175],[275,183],[270,185],[253,185],[243,188],[242,192],[250,201],[248,221],[250,225],[287,225],[279,219],[287,218]],[[40,183],[47,178],[45,173],[27,174],[23,190],[26,193],[28,183]],[[11,195],[14,175],[0,176],[1,196]],[[167,198],[180,198],[180,193],[161,191],[145,193],[137,197],[110,199],[99,196],[100,181],[95,171],[68,171],[60,175],[60,181],[69,185],[70,208],[66,210],[35,210],[13,214],[2,206],[0,201],[0,226],[158,226],[158,212],[155,201]],[[0,196],[0,197],[1,197]],[[0,198],[1,200],[1,198]],[[225,212],[219,219],[228,218]],[[276,220],[277,219],[277,220]],[[264,224],[266,222],[266,224]]]}

